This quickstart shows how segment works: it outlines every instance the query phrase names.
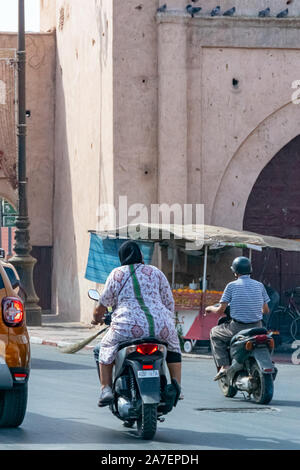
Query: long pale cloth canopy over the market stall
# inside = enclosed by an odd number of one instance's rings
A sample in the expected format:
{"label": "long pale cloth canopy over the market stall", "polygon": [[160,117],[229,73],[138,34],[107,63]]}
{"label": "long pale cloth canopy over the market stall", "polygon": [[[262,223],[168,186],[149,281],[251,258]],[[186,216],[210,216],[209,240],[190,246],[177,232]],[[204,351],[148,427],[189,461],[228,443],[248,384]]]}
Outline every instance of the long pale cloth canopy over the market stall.
{"label": "long pale cloth canopy over the market stall", "polygon": [[[270,237],[258,233],[233,230],[212,225],[178,225],[178,224],[130,224],[105,232],[99,232],[100,236],[131,238],[148,241],[176,241],[176,244],[191,243],[211,248],[218,246],[236,246],[254,248],[277,248],[285,251],[299,251],[300,242],[279,237]],[[250,245],[253,245],[252,247]],[[195,250],[195,247],[191,249]],[[197,248],[196,248],[197,249]]]}

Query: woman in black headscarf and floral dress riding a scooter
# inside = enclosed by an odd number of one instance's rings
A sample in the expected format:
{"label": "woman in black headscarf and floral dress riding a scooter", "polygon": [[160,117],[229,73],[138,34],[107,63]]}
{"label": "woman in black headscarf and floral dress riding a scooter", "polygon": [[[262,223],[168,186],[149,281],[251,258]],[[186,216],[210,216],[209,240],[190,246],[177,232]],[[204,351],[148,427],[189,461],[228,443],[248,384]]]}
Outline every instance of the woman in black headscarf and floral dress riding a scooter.
{"label": "woman in black headscarf and floral dress riding a scooter", "polygon": [[172,384],[180,393],[181,350],[174,322],[174,299],[169,282],[156,267],[145,265],[138,244],[127,241],[119,249],[121,267],[109,275],[94,322],[103,323],[113,308],[111,326],[99,353],[101,393],[98,406],[109,405],[112,369],[118,346],[131,338],[157,337],[168,344],[167,364]]}

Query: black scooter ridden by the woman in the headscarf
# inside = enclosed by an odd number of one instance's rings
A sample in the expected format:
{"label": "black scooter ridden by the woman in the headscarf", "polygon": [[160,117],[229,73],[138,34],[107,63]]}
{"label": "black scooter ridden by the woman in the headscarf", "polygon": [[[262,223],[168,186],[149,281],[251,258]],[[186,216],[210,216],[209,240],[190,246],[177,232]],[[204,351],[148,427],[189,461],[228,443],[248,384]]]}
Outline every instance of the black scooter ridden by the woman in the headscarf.
{"label": "black scooter ridden by the woman in the headscarf", "polygon": [[[96,290],[89,290],[89,297],[99,300]],[[111,322],[111,314],[105,315],[105,324]],[[177,405],[180,387],[176,381],[168,383],[167,344],[157,338],[132,339],[119,344],[113,368],[112,413],[126,427],[137,424],[142,439],[153,439],[157,421]]]}

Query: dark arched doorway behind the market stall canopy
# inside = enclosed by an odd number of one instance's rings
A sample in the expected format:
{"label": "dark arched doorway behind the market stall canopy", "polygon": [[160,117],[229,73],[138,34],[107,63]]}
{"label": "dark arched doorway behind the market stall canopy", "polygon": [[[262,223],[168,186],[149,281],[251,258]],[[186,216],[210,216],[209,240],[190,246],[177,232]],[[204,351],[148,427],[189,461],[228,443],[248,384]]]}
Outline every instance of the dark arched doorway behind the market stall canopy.
{"label": "dark arched doorway behind the market stall canopy", "polygon": [[[283,147],[257,178],[244,214],[244,230],[300,240],[300,135]],[[253,254],[254,277],[281,294],[300,286],[300,254]]]}

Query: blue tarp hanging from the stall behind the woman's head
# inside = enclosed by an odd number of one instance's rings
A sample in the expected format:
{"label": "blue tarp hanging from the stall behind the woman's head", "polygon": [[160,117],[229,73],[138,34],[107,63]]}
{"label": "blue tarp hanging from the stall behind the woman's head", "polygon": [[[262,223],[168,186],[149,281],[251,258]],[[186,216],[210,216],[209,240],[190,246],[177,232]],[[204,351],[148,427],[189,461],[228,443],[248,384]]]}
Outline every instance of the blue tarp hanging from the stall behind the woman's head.
{"label": "blue tarp hanging from the stall behind the woman's head", "polygon": [[[91,233],[85,278],[104,284],[111,271],[120,266],[118,251],[125,241],[119,238],[101,238],[97,233]],[[154,243],[141,241],[136,243],[144,255],[145,264],[151,264]]]}

